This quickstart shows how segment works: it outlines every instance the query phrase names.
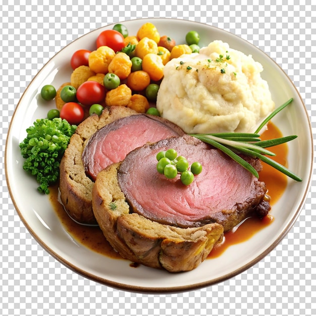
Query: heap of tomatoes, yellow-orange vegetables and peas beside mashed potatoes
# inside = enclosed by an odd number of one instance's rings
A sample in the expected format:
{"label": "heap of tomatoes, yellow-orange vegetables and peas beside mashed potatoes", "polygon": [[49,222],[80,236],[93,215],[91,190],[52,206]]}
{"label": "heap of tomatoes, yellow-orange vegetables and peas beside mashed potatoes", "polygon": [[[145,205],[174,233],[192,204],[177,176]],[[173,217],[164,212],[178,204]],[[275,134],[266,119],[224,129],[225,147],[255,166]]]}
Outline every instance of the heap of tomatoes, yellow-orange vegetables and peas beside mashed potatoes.
{"label": "heap of tomatoes, yellow-orange vegetables and peas beside mashed potatoes", "polygon": [[105,106],[124,106],[138,113],[159,116],[154,106],[165,65],[173,58],[199,51],[199,34],[190,31],[185,44],[161,36],[152,23],[129,35],[123,24],[102,31],[93,51],[80,49],[71,57],[73,72],[58,90],[41,88],[45,100],[55,98],[48,119],[60,117],[78,125],[87,116],[100,115]]}

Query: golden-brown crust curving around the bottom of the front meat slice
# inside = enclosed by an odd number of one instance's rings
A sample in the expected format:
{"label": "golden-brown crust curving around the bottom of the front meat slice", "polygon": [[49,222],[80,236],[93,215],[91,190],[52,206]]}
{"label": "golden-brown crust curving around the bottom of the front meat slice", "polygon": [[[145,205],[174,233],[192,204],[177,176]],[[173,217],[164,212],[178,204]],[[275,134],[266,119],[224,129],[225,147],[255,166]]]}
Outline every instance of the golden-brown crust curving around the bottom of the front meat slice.
{"label": "golden-brown crust curving around the bottom of the front meat slice", "polygon": [[92,189],[94,216],[113,248],[124,258],[152,268],[169,272],[196,268],[222,239],[223,227],[179,228],[130,214],[117,180],[119,166],[101,171]]}

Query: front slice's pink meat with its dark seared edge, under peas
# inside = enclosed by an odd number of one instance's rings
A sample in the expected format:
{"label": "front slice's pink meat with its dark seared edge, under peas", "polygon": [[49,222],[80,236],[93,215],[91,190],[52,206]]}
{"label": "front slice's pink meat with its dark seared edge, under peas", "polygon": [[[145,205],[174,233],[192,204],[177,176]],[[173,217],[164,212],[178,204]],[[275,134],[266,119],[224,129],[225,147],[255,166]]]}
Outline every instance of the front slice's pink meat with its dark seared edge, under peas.
{"label": "front slice's pink meat with its dark seared edge, under peas", "polygon": [[[192,184],[185,186],[179,175],[170,180],[156,171],[157,152],[169,148],[185,156],[189,164],[202,164]],[[260,170],[258,160],[249,162]],[[270,210],[264,182],[220,150],[189,135],[131,151],[120,165],[118,182],[133,212],[177,227],[218,223],[228,231],[249,214],[264,216]]]}

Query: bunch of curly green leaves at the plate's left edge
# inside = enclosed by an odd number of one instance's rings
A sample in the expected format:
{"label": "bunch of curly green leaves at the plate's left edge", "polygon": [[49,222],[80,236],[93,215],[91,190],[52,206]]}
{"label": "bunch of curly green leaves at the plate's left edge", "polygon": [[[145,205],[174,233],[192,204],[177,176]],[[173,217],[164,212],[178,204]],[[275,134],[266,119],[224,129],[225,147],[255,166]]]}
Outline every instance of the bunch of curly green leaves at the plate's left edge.
{"label": "bunch of curly green leaves at the plate's left edge", "polygon": [[59,166],[70,137],[77,126],[66,120],[38,119],[26,129],[27,136],[20,143],[26,161],[23,169],[36,177],[39,192],[49,193],[48,186],[59,179]]}

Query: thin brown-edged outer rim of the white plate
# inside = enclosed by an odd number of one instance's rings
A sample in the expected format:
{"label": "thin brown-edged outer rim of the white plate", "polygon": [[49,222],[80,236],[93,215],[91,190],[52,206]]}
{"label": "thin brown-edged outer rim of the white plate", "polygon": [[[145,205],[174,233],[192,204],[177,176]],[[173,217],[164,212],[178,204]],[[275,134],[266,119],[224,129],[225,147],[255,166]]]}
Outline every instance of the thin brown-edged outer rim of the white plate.
{"label": "thin brown-edged outer rim of the white plate", "polygon": [[[139,22],[139,21],[145,21],[145,22],[149,22],[149,21],[155,21],[155,20],[173,20],[173,21],[181,21],[181,23],[197,23],[197,24],[201,24],[203,26],[207,26],[210,29],[215,28],[218,29],[220,31],[224,31],[226,33],[229,33],[233,36],[237,36],[241,41],[246,42],[247,44],[250,44],[251,46],[255,47],[256,49],[258,49],[259,51],[261,51],[263,54],[266,55],[267,58],[270,59],[270,61],[272,61],[275,66],[277,66],[277,68],[279,70],[281,70],[284,75],[287,77],[288,82],[292,85],[292,87],[296,90],[297,95],[300,98],[301,103],[303,104],[303,110],[304,110],[304,115],[307,118],[308,121],[308,130],[309,130],[309,140],[310,140],[310,148],[311,148],[311,166],[309,169],[309,174],[308,174],[308,180],[306,181],[306,188],[304,190],[304,193],[302,194],[302,198],[301,201],[294,213],[294,216],[291,218],[291,220],[289,221],[289,223],[282,229],[282,232],[279,234],[278,238],[276,238],[276,240],[262,253],[260,253],[258,256],[256,256],[254,259],[252,259],[251,261],[247,262],[245,265],[242,265],[241,267],[239,267],[238,269],[234,270],[233,272],[227,273],[221,277],[218,277],[216,279],[212,279],[212,280],[207,280],[204,282],[199,282],[199,283],[194,283],[194,284],[190,284],[190,285],[183,285],[183,286],[172,286],[172,287],[144,287],[144,286],[137,286],[137,285],[129,285],[129,284],[124,284],[124,283],[120,283],[120,282],[116,282],[116,281],[112,281],[112,280],[108,280],[108,279],[104,279],[102,277],[96,276],[92,273],[89,273],[87,271],[82,270],[81,268],[77,267],[75,264],[72,264],[72,262],[70,262],[69,260],[66,260],[65,258],[63,258],[61,255],[59,255],[56,251],[52,250],[45,242],[43,242],[41,240],[41,238],[37,235],[37,233],[32,229],[32,227],[30,226],[30,224],[26,221],[26,219],[24,218],[24,216],[22,215],[21,210],[18,208],[17,202],[16,202],[16,198],[15,196],[13,196],[12,192],[12,188],[11,188],[11,182],[9,179],[9,174],[8,174],[8,138],[10,138],[9,136],[11,135],[11,128],[14,122],[14,118],[16,116],[17,113],[17,109],[20,107],[21,104],[21,100],[23,99],[25,93],[27,92],[29,86],[35,81],[35,79],[39,76],[39,74],[42,72],[43,69],[45,69],[46,65],[50,62],[50,60],[52,58],[55,58],[58,54],[61,54],[61,52],[68,47],[71,43],[73,43],[74,41],[89,35],[90,33],[97,31],[97,30],[102,30],[102,29],[107,29],[117,23],[127,23],[130,21],[135,21],[135,22]],[[144,23],[145,23],[144,22]],[[45,251],[47,251],[52,257],[54,257],[55,259],[57,259],[61,264],[63,264],[64,266],[66,266],[67,268],[69,268],[70,270],[76,272],[77,274],[88,278],[90,280],[96,281],[98,283],[101,283],[103,285],[107,285],[116,289],[120,289],[120,290],[126,290],[126,291],[130,291],[130,292],[137,292],[137,293],[178,293],[178,292],[184,292],[184,291],[189,291],[189,290],[195,290],[195,289],[200,289],[206,286],[211,286],[220,282],[223,282],[225,280],[228,280],[238,274],[240,274],[241,272],[249,269],[250,267],[252,267],[253,265],[255,265],[258,261],[260,261],[262,258],[264,258],[268,253],[270,253],[280,242],[281,240],[287,235],[288,231],[292,228],[292,226],[294,225],[294,223],[296,222],[297,218],[300,215],[300,212],[303,208],[303,205],[305,204],[306,201],[306,197],[307,194],[310,190],[310,185],[311,185],[311,179],[312,179],[312,174],[313,174],[313,160],[314,160],[314,150],[313,150],[313,134],[312,134],[312,128],[311,128],[311,122],[310,122],[310,118],[305,106],[305,103],[298,91],[298,89],[296,88],[296,86],[294,85],[294,83],[292,82],[292,80],[289,78],[289,76],[287,75],[287,73],[276,63],[276,61],[274,61],[265,51],[262,51],[260,48],[258,48],[257,46],[255,46],[254,44],[252,44],[251,42],[243,39],[242,37],[231,33],[229,31],[226,31],[224,29],[221,29],[219,27],[210,25],[210,24],[206,24],[206,23],[202,23],[202,22],[198,22],[198,21],[191,21],[191,20],[186,20],[186,19],[175,19],[175,18],[143,18],[143,19],[130,19],[130,20],[125,20],[125,21],[120,21],[117,23],[111,23],[111,24],[107,24],[104,26],[101,26],[99,28],[93,29],[91,31],[89,31],[88,33],[85,33],[81,36],[79,36],[78,38],[76,38],[75,40],[71,41],[70,43],[68,43],[67,45],[65,45],[61,50],[59,50],[53,57],[51,57],[47,63],[45,63],[36,73],[36,75],[32,78],[32,80],[29,82],[29,84],[27,85],[27,87],[25,88],[25,90],[23,91],[22,95],[20,96],[20,99],[17,103],[16,108],[14,109],[14,113],[11,117],[11,122],[8,128],[8,132],[7,132],[7,139],[6,139],[6,146],[5,146],[5,174],[6,174],[6,182],[7,182],[7,186],[8,186],[8,190],[9,190],[9,194],[11,197],[11,200],[14,204],[15,210],[17,212],[17,214],[19,215],[21,221],[23,222],[24,226],[27,228],[27,230],[29,231],[29,233],[33,236],[33,238],[38,242],[38,244],[45,249]],[[177,22],[176,22],[177,23]]]}

